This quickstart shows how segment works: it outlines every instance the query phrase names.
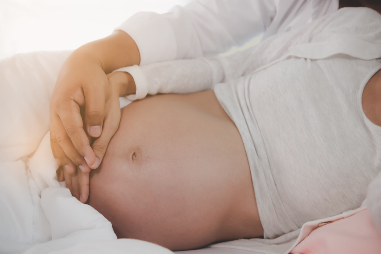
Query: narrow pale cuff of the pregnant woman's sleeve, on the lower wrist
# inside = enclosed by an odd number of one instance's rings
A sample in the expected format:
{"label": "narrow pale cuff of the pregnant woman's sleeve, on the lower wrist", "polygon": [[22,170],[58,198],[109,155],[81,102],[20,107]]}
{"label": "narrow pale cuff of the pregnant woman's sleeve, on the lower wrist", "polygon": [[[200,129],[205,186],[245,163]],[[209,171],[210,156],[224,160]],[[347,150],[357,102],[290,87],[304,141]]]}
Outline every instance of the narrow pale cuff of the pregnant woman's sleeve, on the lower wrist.
{"label": "narrow pale cuff of the pregnant woman's sleeve, on the lower wrist", "polygon": [[113,72],[128,72],[133,77],[135,81],[135,85],[136,85],[136,93],[127,95],[126,96],[127,99],[134,101],[134,100],[143,99],[144,97],[147,96],[148,84],[147,84],[146,77],[144,73],[142,72],[141,67],[139,67],[138,65],[133,65],[133,66],[119,68],[117,70],[114,70]]}

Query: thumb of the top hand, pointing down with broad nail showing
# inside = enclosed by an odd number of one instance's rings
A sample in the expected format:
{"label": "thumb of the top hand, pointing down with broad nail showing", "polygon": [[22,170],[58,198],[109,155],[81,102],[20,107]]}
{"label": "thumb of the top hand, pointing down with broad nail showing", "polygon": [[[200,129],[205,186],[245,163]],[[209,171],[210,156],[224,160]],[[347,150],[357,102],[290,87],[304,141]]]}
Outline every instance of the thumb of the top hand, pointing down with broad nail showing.
{"label": "thumb of the top hand, pointing down with broad nail showing", "polygon": [[102,133],[103,118],[104,118],[104,105],[106,102],[107,92],[107,78],[104,81],[106,85],[98,86],[96,89],[90,88],[86,90],[84,88],[83,93],[85,95],[85,123],[86,130],[91,137],[99,137]]}

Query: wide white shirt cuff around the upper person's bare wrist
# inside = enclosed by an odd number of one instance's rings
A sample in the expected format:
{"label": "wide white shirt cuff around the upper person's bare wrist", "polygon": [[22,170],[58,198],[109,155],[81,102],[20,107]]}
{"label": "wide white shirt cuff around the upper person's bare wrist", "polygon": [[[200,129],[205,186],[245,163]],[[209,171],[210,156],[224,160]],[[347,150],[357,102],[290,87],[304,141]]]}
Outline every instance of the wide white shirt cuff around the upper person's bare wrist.
{"label": "wide white shirt cuff around the upper person's bare wrist", "polygon": [[136,13],[115,30],[123,30],[133,38],[139,49],[140,65],[176,58],[176,37],[168,19],[163,15]]}

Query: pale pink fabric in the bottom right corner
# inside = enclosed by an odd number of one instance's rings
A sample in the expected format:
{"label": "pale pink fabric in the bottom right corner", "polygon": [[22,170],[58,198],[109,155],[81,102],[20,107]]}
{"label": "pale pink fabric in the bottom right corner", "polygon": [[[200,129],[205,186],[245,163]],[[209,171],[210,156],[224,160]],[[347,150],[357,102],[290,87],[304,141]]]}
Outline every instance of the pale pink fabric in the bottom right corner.
{"label": "pale pink fabric in the bottom right corner", "polygon": [[381,232],[365,209],[315,228],[290,253],[381,254]]}

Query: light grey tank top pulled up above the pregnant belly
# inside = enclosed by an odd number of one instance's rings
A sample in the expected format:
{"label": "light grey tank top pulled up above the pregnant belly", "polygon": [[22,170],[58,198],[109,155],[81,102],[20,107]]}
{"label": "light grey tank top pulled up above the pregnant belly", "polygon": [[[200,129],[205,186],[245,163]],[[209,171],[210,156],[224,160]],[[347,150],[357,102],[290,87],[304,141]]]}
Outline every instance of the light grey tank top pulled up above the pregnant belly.
{"label": "light grey tank top pulled up above the pregnant belly", "polygon": [[245,144],[265,238],[361,205],[381,168],[381,127],[360,101],[378,69],[345,55],[291,58],[215,86]]}

